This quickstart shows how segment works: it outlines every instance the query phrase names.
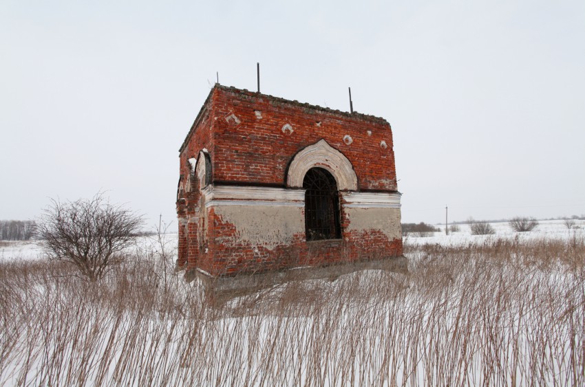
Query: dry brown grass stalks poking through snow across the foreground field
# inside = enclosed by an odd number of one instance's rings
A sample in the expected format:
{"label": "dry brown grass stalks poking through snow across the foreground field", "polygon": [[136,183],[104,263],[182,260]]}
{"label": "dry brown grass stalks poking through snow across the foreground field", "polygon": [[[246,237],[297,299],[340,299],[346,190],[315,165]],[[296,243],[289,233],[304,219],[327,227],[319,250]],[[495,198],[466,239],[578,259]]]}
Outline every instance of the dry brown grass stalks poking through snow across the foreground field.
{"label": "dry brown grass stalks poking through snow across the foreground field", "polygon": [[0,385],[585,384],[582,238],[406,254],[409,276],[292,280],[222,305],[151,249],[98,285],[0,263]]}

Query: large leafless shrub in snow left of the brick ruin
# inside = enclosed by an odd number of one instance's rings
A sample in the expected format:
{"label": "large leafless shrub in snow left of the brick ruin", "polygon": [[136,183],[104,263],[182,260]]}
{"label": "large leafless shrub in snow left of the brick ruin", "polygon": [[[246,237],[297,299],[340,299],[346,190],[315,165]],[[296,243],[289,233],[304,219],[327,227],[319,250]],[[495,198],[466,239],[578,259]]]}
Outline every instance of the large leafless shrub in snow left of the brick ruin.
{"label": "large leafless shrub in snow left of the brick ruin", "polygon": [[50,259],[72,263],[96,281],[122,261],[141,225],[142,217],[110,204],[101,192],[65,203],[52,199],[38,223],[39,245]]}

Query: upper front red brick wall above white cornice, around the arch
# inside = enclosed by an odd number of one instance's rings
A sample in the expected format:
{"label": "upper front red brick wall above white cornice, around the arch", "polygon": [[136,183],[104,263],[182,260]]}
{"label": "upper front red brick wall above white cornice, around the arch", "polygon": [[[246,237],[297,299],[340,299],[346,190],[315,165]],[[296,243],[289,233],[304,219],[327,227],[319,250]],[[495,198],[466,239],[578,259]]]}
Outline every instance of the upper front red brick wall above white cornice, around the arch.
{"label": "upper front red brick wall above white cornice, around the arch", "polygon": [[[233,89],[217,88],[212,98],[217,118],[211,155],[214,181],[284,186],[286,169],[295,153],[324,139],[348,157],[360,190],[396,190],[392,131],[385,120],[279,102]],[[256,118],[255,111],[262,113],[262,119]],[[231,114],[240,124],[226,122]],[[292,126],[292,134],[281,131],[285,124]],[[345,135],[352,137],[352,144],[343,142]],[[381,141],[387,148],[381,148]]]}

